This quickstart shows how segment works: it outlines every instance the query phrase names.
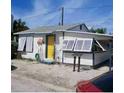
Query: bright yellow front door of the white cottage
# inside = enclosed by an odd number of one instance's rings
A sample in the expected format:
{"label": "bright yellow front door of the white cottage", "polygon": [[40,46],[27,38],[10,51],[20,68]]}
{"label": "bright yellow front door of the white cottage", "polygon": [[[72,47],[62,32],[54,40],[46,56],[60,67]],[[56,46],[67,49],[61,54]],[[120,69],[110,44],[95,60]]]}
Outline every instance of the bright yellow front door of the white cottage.
{"label": "bright yellow front door of the white cottage", "polygon": [[54,35],[48,36],[47,58],[54,58]]}

